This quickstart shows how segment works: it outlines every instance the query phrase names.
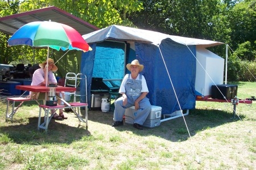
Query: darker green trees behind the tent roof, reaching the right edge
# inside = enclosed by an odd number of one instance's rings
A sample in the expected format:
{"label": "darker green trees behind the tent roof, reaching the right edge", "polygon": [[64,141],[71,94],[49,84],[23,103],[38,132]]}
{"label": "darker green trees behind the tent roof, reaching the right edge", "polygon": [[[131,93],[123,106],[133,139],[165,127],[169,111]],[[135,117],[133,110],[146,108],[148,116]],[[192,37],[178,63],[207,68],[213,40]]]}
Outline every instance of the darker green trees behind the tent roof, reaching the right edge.
{"label": "darker green trees behind the tent roof, reaching the right edge", "polygon": [[[138,27],[199,39],[221,41],[234,48],[234,55],[246,61],[255,59],[255,0],[143,0],[144,10],[130,15]],[[225,56],[225,46],[210,50]],[[231,54],[231,52],[229,51]],[[230,55],[229,78],[245,73],[236,57]],[[231,80],[232,80],[231,79]]]}

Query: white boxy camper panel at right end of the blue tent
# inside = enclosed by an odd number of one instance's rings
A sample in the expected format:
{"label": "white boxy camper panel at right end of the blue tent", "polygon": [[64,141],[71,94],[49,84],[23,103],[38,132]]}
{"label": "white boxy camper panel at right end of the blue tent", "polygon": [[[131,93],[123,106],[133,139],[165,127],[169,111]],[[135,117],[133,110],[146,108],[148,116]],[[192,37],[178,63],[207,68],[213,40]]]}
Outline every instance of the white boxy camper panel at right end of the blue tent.
{"label": "white boxy camper panel at right end of the blue tent", "polygon": [[196,95],[209,96],[214,83],[223,84],[224,58],[199,45],[196,46],[196,58]]}

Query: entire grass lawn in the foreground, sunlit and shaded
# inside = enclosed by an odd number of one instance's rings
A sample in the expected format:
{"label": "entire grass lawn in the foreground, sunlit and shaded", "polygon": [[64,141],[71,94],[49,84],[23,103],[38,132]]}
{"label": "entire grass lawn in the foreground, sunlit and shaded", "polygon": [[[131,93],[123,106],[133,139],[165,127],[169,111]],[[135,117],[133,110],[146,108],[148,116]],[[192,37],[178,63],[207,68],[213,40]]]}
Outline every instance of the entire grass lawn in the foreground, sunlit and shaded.
{"label": "entire grass lawn in the foreground, sunlit and shaded", "polygon": [[[239,99],[255,95],[256,83],[235,84]],[[5,110],[2,100],[0,169],[255,169],[255,101],[237,105],[239,118],[232,104],[197,101],[184,119],[142,131],[110,126],[113,111],[89,111],[88,130],[65,113],[68,120],[52,120],[45,133],[35,103],[24,103],[13,122]]]}

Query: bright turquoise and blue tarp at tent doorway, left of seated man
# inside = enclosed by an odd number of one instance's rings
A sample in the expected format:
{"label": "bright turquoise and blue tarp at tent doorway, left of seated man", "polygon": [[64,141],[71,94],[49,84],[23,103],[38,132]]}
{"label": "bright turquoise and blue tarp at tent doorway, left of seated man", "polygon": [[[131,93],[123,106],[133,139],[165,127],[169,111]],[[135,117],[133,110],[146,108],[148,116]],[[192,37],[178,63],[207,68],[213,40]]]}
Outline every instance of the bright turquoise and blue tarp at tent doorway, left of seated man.
{"label": "bright turquoise and blue tarp at tent doorway, left of seated man", "polygon": [[[82,54],[81,73],[87,76],[88,104],[90,108],[90,88],[92,78],[123,79],[125,66],[125,44],[123,42],[102,42],[90,44],[93,48],[89,53]],[[115,83],[115,82],[114,82]],[[117,82],[118,85],[121,82]],[[81,84],[81,87],[85,87]],[[82,96],[85,88],[81,88]],[[81,102],[85,102],[85,97],[81,97]]]}

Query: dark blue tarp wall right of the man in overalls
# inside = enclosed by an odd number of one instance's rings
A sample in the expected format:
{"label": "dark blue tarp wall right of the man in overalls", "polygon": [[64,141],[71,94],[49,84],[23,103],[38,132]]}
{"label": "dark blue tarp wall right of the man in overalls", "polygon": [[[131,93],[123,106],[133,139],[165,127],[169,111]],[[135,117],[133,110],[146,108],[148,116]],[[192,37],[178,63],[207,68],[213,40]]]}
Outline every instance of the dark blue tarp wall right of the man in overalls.
{"label": "dark blue tarp wall right of the man in overalls", "polygon": [[[142,74],[147,81],[151,104],[162,107],[163,114],[170,114],[180,110],[177,95],[181,109],[195,108],[196,59],[187,46],[164,40],[159,46],[163,58],[157,46],[135,43],[135,48],[144,65]],[[195,45],[189,48],[196,53]]]}

